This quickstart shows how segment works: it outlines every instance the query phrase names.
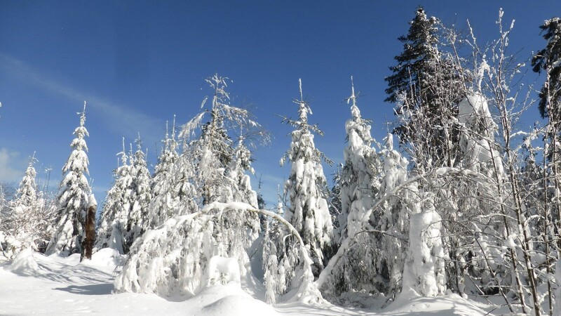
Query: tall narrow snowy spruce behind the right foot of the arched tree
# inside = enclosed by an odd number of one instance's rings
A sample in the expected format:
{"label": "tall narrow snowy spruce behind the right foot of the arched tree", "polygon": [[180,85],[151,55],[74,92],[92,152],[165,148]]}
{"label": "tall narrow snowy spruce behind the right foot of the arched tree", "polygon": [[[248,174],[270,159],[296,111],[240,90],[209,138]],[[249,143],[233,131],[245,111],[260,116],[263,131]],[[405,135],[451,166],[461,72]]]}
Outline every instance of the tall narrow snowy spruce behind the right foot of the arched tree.
{"label": "tall narrow snowy spruce behind the right foot of the arched tree", "polygon": [[[293,102],[298,105],[298,119],[285,118],[283,122],[295,126],[292,131],[292,143],[280,164],[286,160],[291,163],[290,176],[285,184],[289,205],[285,211],[286,220],[292,224],[302,236],[304,244],[309,247],[313,261],[313,274],[319,275],[330,256],[333,240],[333,223],[327,206],[327,181],[323,175],[321,160],[325,159],[322,152],[313,144],[313,134],[323,132],[316,125],[308,124],[308,114],[311,109],[302,96],[302,80],[299,80],[300,99]],[[290,256],[295,252],[295,240],[287,239],[285,249],[287,256],[280,258],[281,262],[290,262],[290,269],[295,270],[299,259]],[[284,249],[280,249],[283,251]]]}

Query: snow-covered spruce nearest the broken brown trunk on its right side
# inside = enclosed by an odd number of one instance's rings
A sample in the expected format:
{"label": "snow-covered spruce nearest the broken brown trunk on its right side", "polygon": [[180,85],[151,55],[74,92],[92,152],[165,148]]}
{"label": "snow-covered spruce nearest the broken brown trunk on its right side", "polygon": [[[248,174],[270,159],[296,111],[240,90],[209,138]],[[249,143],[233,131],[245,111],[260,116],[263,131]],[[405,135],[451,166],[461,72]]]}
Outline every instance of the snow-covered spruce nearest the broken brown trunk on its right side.
{"label": "snow-covered spruce nearest the broken brown trunk on its right side", "polygon": [[128,223],[128,212],[133,204],[132,166],[129,165],[123,138],[123,151],[117,159],[117,169],[114,173],[114,183],[107,192],[103,204],[100,222],[97,225],[97,239],[95,248],[111,248],[124,254],[125,232]]}

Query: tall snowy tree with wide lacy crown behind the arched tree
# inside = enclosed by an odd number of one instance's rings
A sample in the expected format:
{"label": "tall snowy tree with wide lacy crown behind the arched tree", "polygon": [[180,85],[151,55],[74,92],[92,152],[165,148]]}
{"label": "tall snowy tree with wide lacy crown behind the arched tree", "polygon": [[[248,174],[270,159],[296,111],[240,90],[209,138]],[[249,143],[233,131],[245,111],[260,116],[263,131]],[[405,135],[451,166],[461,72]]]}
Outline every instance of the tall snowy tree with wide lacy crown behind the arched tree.
{"label": "tall snowy tree with wide lacy crown behind the arched tree", "polygon": [[[250,143],[250,136],[264,136],[258,141],[266,142],[266,133],[248,110],[231,105],[227,77],[215,74],[205,81],[212,88],[210,106],[207,97],[201,105],[204,111],[180,132],[186,147],[177,162],[176,187],[186,187],[191,196],[182,198],[180,208],[185,211],[178,214],[193,213],[214,201],[245,202],[257,207],[257,193],[246,174],[253,173],[252,154],[246,142]],[[242,133],[236,135],[238,131]],[[247,250],[259,233],[257,214],[234,212],[213,220],[212,235],[224,247],[223,256],[237,258],[245,275],[249,263]]]}

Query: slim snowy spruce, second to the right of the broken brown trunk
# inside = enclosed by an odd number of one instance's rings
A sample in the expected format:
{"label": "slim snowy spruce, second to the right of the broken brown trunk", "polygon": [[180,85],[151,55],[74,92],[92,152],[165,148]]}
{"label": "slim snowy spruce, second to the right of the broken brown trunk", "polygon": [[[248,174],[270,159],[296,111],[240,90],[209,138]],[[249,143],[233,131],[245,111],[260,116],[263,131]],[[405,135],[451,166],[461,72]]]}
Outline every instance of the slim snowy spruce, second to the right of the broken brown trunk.
{"label": "slim snowy spruce, second to the right of the broken brown trunk", "polygon": [[135,140],[137,150],[131,158],[130,190],[132,190],[130,209],[123,234],[123,251],[128,254],[130,246],[142,236],[148,228],[148,204],[151,200],[151,176],[147,167],[146,154],[142,151],[140,135]]}

